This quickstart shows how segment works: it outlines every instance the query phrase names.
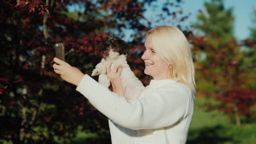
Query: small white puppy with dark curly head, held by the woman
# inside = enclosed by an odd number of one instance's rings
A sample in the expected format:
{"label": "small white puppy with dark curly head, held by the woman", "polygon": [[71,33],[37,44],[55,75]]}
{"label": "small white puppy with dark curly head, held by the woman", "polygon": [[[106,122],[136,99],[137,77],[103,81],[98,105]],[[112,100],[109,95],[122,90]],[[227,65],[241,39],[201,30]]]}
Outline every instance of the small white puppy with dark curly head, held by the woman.
{"label": "small white puppy with dark curly head, held by the woman", "polygon": [[127,51],[129,50],[129,44],[118,37],[107,37],[98,44],[97,48],[101,52],[103,58],[92,71],[92,76],[99,75],[98,82],[109,87],[110,81],[106,74],[105,64],[107,62],[112,62],[111,69],[115,65],[119,65],[123,67],[121,79],[124,86],[125,98],[129,101],[138,99],[145,87],[133,74],[130,66],[127,64],[126,57]]}

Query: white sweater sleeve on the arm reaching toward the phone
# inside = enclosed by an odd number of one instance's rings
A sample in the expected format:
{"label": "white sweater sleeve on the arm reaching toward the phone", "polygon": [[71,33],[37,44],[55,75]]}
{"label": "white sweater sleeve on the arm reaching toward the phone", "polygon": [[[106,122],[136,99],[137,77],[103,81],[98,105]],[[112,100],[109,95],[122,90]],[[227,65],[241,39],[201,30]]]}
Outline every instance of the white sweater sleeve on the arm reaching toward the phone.
{"label": "white sweater sleeve on the arm reaching toward the phone", "polygon": [[179,122],[187,111],[188,93],[168,87],[145,93],[147,97],[129,103],[85,75],[77,89],[98,111],[113,122],[129,129],[156,129]]}

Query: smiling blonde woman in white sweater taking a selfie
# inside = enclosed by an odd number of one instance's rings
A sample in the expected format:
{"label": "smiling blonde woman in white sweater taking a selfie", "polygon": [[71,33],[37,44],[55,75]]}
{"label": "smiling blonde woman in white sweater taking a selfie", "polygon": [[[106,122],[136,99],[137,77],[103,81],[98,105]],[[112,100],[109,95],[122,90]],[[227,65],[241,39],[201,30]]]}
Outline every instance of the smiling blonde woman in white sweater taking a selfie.
{"label": "smiling blonde woman in white sweater taking a selfie", "polygon": [[123,93],[121,68],[106,65],[113,92],[57,58],[54,71],[110,119],[112,143],[185,143],[195,97],[188,41],[175,27],[157,26],[147,32],[145,47],[144,73],[154,80],[131,103],[118,95]]}

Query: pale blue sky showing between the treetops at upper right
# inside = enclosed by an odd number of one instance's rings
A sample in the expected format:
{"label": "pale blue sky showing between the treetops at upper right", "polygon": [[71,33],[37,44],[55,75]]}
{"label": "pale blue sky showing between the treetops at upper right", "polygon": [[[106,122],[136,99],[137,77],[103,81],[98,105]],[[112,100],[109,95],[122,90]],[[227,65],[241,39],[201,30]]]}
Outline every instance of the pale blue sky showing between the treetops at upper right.
{"label": "pale blue sky showing between the treetops at upper right", "polygon": [[[171,0],[171,2],[174,0]],[[159,0],[155,4],[162,4],[165,0]],[[204,8],[205,2],[210,2],[210,0],[183,0],[181,5],[184,14],[191,13],[188,23],[194,23],[196,21],[196,15],[198,10],[201,9],[206,11]],[[234,23],[234,34],[235,37],[239,40],[246,39],[249,36],[249,27],[253,26],[252,15],[253,8],[256,9],[256,0],[224,0],[224,7],[231,8],[233,7],[233,15],[235,16]],[[161,7],[157,9],[161,11]],[[158,11],[155,11],[158,12]],[[145,16],[150,20],[154,21],[154,16],[150,10],[148,10]],[[153,23],[155,25],[166,25],[167,23]]]}

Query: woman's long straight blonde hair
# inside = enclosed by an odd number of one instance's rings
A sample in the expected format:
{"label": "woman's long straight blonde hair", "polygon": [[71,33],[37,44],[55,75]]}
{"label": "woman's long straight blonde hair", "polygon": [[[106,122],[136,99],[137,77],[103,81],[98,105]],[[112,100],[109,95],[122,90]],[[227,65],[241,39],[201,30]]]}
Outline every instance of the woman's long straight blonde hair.
{"label": "woman's long straight blonde hair", "polygon": [[170,63],[168,79],[187,85],[194,97],[195,91],[195,67],[188,40],[185,35],[173,26],[156,26],[147,32],[151,35],[155,51]]}

